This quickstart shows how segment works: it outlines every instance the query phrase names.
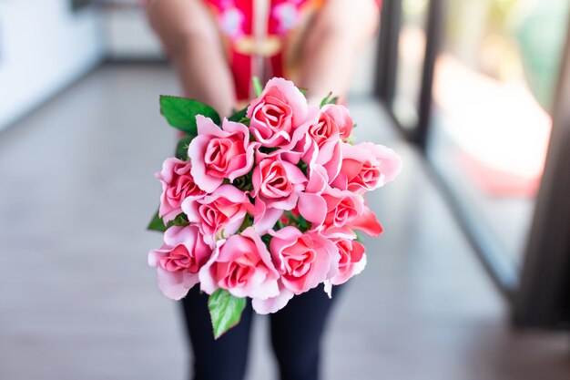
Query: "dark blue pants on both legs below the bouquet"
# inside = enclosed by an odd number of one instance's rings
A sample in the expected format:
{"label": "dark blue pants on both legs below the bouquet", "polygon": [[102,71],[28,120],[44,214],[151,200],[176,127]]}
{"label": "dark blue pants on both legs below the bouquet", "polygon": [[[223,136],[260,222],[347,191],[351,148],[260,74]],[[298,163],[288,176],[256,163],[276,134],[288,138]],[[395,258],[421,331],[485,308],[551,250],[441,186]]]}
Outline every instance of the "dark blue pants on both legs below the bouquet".
{"label": "dark blue pants on both legs below the bouquet", "polygon": [[[335,287],[335,291],[338,287]],[[335,292],[335,297],[339,292]],[[270,314],[271,344],[280,380],[318,380],[321,336],[332,300],[322,285],[297,295],[278,313]],[[253,310],[248,303],[241,322],[215,341],[208,312],[208,294],[195,286],[183,299],[190,343],[194,352],[194,380],[242,380],[249,349]]]}

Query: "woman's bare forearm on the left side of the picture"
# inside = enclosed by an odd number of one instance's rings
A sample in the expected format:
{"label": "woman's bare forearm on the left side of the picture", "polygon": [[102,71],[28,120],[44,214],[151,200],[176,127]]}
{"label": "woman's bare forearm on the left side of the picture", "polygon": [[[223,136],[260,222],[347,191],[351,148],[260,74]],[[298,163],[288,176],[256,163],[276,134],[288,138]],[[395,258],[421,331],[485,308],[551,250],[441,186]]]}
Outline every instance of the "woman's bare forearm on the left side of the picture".
{"label": "woman's bare forearm on the left side of the picture", "polygon": [[235,88],[215,20],[198,0],[150,0],[148,19],[178,71],[184,96],[215,108],[235,106]]}

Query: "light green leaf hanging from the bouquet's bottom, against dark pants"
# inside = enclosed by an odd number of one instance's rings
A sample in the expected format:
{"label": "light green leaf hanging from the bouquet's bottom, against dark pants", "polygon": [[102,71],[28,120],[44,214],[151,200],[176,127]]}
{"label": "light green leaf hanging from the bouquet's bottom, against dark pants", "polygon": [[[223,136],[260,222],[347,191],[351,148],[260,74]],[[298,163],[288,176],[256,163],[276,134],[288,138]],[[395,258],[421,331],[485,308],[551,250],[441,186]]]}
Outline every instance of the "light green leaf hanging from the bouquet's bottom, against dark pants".
{"label": "light green leaf hanging from the bouquet's bottom, against dark pants", "polygon": [[245,307],[245,298],[234,297],[225,289],[218,289],[211,293],[208,299],[208,309],[214,329],[214,338],[218,339],[230,328],[239,324]]}

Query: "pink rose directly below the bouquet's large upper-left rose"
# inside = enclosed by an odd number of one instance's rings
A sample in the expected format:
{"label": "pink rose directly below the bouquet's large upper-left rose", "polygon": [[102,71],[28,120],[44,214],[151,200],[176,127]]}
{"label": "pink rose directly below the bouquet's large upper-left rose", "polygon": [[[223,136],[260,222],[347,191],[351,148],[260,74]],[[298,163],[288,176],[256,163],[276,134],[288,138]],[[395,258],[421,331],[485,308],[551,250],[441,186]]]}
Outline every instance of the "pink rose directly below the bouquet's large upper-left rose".
{"label": "pink rose directly below the bouquet's large upper-left rose", "polygon": [[188,221],[197,223],[205,235],[227,237],[239,230],[248,211],[254,207],[248,195],[232,185],[221,185],[209,195],[182,203]]}

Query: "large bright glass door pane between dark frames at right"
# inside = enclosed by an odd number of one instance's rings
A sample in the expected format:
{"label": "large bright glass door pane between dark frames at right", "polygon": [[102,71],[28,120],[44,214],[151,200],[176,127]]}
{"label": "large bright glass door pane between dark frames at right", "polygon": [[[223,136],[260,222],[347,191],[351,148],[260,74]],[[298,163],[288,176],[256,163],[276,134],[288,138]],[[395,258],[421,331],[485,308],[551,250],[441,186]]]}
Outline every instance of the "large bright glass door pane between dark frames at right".
{"label": "large bright glass door pane between dark frames at right", "polygon": [[507,290],[518,284],[545,167],[569,7],[445,2],[427,155]]}

